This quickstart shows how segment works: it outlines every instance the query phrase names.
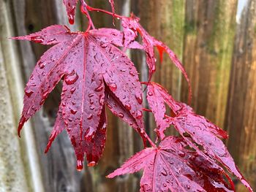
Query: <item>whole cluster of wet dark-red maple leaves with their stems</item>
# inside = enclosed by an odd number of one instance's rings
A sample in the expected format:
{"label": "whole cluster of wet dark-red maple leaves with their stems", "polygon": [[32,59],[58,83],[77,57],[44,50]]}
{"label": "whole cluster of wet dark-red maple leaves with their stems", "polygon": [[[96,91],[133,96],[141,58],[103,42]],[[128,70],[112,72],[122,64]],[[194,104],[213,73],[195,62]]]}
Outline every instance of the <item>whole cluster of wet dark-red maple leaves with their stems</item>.
{"label": "whole cluster of wet dark-red maple leaves with their stems", "polygon": [[[88,165],[96,165],[105,148],[105,108],[108,107],[138,131],[145,146],[146,142],[151,144],[109,174],[109,178],[143,169],[140,191],[234,191],[228,171],[252,191],[221,140],[227,139],[226,132],[196,115],[187,104],[175,101],[161,85],[151,82],[156,70],[154,48],[157,47],[160,60],[162,54],[167,53],[184,74],[191,97],[189,78],[173,51],[151,37],[140,26],[139,18],[116,15],[113,0],[109,1],[112,12],[89,7],[85,1],[80,1],[81,11],[89,18],[89,28],[85,32],[72,32],[67,26],[56,25],[25,37],[12,38],[53,45],[39,59],[26,85],[19,136],[23,124],[42,107],[48,94],[62,80],[61,104],[45,153],[65,129],[75,148],[78,170],[83,169],[85,154]],[[78,0],[64,0],[64,4],[72,24]],[[95,29],[89,11],[101,11],[121,19],[123,30]],[[138,35],[142,42],[135,40]],[[145,51],[148,82],[140,82],[134,64],[124,53],[127,48]],[[151,109],[143,108],[141,84],[146,85],[146,99]],[[166,114],[166,107],[172,115]],[[159,146],[146,134],[143,110],[154,114],[155,131],[161,141]],[[176,128],[181,137],[165,136],[165,129],[170,126]]]}

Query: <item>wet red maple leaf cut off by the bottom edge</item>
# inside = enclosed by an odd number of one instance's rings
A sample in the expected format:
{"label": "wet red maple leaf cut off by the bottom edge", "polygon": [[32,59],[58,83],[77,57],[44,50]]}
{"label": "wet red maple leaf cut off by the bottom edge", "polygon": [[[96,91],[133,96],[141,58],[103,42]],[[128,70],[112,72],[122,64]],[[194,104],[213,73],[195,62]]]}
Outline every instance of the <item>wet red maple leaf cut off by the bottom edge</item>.
{"label": "wet red maple leaf cut off by the bottom edge", "polygon": [[[185,147],[187,144],[184,139],[167,137],[159,147],[141,150],[107,177],[113,178],[143,169],[141,192],[233,191],[230,177],[221,167]],[[230,185],[225,178],[230,181]]]}

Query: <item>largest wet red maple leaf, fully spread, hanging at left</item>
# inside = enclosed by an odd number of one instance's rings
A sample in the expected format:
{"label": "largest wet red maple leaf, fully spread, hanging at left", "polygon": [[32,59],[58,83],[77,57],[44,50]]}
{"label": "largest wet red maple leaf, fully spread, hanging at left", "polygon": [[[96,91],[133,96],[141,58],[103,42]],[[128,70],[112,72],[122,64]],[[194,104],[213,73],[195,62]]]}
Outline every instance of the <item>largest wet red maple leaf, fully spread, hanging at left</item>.
{"label": "largest wet red maple leaf, fully spread, hanging at left", "polygon": [[[123,46],[121,31],[101,28],[83,33],[71,32],[65,26],[50,26],[13,39],[54,45],[39,59],[26,85],[19,135],[26,120],[63,80],[59,115],[46,151],[56,135],[66,128],[75,148],[78,169],[83,167],[85,153],[89,165],[96,164],[105,146],[106,102],[115,115],[146,140],[138,72],[127,55],[116,47]],[[139,45],[131,42],[132,46]]]}

